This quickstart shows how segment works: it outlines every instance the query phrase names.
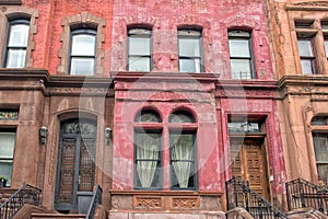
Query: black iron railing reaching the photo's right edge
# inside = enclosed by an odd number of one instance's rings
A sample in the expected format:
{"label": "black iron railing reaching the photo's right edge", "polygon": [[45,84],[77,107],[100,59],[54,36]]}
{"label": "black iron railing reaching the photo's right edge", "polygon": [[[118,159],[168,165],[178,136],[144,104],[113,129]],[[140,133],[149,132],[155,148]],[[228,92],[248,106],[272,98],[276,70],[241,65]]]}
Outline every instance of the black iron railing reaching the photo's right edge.
{"label": "black iron railing reaching the photo's right edge", "polygon": [[289,210],[314,208],[328,216],[328,189],[303,178],[285,184]]}

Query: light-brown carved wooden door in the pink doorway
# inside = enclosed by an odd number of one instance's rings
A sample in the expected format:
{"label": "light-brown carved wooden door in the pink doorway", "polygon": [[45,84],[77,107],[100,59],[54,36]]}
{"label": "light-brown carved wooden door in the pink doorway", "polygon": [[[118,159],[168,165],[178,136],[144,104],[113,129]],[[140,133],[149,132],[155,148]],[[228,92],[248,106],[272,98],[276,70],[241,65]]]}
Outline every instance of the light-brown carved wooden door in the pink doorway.
{"label": "light-brown carved wooden door in the pink doorway", "polygon": [[248,181],[253,191],[269,199],[269,183],[262,140],[231,138],[232,174],[242,181]]}

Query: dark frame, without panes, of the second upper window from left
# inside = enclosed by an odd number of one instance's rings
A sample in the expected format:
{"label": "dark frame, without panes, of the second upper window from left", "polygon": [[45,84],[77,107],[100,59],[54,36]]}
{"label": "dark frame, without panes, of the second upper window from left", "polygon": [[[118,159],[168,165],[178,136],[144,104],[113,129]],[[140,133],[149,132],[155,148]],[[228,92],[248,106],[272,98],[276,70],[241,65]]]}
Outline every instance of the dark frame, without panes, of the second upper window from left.
{"label": "dark frame, without panes, of the second upper window from left", "polygon": [[[79,35],[91,35],[94,36],[94,55],[72,55],[73,50],[73,37]],[[68,72],[70,76],[95,76],[95,68],[96,68],[96,43],[97,43],[97,31],[94,28],[75,28],[71,30],[70,32],[70,48],[69,48],[69,64],[68,64]],[[93,59],[93,72],[91,74],[72,74],[72,59],[73,58],[87,58]]]}

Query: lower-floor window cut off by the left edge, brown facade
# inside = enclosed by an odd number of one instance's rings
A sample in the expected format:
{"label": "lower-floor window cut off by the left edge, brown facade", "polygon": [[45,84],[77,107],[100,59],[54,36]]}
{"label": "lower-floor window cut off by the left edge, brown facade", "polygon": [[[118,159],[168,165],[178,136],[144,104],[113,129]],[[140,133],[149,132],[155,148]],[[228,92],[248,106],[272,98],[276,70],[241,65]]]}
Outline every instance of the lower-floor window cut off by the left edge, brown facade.
{"label": "lower-floor window cut off by the left edge, brown facade", "polygon": [[0,175],[8,178],[7,186],[11,184],[15,136],[14,130],[0,131]]}

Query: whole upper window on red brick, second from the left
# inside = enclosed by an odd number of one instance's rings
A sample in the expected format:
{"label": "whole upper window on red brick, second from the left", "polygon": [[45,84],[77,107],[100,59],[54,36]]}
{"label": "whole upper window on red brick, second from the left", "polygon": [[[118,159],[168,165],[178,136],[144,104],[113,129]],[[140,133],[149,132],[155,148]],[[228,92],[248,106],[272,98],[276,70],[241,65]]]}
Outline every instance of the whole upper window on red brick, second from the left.
{"label": "whole upper window on red brick, second from the left", "polygon": [[71,32],[70,74],[94,74],[96,32],[75,30]]}

